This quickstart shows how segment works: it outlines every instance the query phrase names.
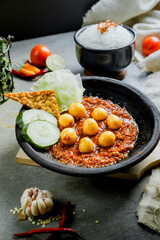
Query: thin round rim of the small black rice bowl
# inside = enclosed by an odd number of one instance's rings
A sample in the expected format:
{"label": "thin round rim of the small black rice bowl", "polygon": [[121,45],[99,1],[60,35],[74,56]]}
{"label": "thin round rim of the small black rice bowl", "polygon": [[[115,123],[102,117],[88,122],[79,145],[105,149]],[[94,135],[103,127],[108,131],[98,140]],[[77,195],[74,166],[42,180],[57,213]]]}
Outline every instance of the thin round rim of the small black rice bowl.
{"label": "thin round rim of the small black rice bowl", "polygon": [[[92,25],[95,25],[95,24],[92,24]],[[78,42],[78,39],[77,39],[78,35],[79,35],[81,32],[83,32],[87,27],[90,27],[91,25],[85,26],[85,27],[79,29],[78,31],[76,31],[75,34],[74,34],[74,41],[76,42],[76,44],[78,44],[79,46],[81,46],[81,47],[84,48],[84,49],[87,49],[87,50],[90,50],[90,51],[95,51],[95,52],[100,52],[100,53],[101,53],[101,52],[106,52],[106,53],[107,53],[107,52],[112,52],[112,51],[115,51],[115,50],[124,49],[124,48],[132,45],[132,44],[135,42],[135,40],[136,40],[136,33],[135,33],[135,31],[134,31],[132,28],[130,28],[130,27],[126,26],[126,25],[123,25],[123,24],[119,24],[119,25],[122,26],[122,27],[124,27],[124,28],[126,28],[126,29],[127,29],[128,31],[130,31],[130,32],[132,33],[132,35],[133,35],[133,39],[132,39],[128,44],[123,45],[122,47],[119,47],[119,48],[111,48],[111,49],[95,49],[95,48],[85,47],[84,45],[82,45],[81,43],[79,43],[79,42]]]}

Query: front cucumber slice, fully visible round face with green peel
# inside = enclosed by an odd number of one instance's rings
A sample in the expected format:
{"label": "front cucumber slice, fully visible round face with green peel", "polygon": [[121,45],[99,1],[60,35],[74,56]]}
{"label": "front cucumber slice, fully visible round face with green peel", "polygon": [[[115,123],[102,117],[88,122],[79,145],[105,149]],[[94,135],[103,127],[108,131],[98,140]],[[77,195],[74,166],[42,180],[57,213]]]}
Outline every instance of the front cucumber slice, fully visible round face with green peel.
{"label": "front cucumber slice, fully visible round face with green peel", "polygon": [[24,125],[21,135],[35,147],[45,148],[58,142],[60,130],[51,122],[36,120]]}

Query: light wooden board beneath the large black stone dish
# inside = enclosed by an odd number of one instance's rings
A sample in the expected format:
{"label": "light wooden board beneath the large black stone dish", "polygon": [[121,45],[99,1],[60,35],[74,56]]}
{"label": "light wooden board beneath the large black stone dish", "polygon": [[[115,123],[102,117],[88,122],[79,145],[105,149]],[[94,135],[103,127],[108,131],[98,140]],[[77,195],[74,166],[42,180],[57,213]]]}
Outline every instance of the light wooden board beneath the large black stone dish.
{"label": "light wooden board beneath the large black stone dish", "polygon": [[[39,166],[36,162],[30,159],[22,149],[20,149],[16,156],[16,162],[21,164],[29,164],[33,166]],[[143,161],[134,165],[133,167],[119,173],[111,174],[109,177],[138,180],[149,169],[158,166],[160,164],[160,142],[154,151]],[[108,176],[108,175],[107,175]]]}

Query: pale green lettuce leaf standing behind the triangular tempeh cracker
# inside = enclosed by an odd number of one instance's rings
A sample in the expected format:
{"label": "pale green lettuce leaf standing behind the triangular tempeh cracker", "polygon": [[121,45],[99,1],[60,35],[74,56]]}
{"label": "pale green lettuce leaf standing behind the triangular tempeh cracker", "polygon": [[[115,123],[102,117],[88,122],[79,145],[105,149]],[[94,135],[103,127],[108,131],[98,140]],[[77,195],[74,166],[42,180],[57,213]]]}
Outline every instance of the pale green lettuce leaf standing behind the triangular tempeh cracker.
{"label": "pale green lettuce leaf standing behind the triangular tempeh cracker", "polygon": [[73,102],[82,102],[84,88],[80,74],[74,75],[68,69],[44,74],[31,87],[32,91],[53,89],[56,92],[59,111],[67,111]]}

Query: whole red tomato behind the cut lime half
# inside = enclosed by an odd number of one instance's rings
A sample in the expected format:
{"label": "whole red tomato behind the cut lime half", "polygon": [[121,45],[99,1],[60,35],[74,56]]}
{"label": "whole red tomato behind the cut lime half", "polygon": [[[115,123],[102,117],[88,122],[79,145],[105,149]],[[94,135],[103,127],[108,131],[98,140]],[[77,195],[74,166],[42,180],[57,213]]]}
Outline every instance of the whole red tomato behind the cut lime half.
{"label": "whole red tomato behind the cut lime half", "polygon": [[39,44],[31,50],[31,63],[35,66],[44,67],[46,66],[47,57],[51,54],[52,53],[47,46]]}

